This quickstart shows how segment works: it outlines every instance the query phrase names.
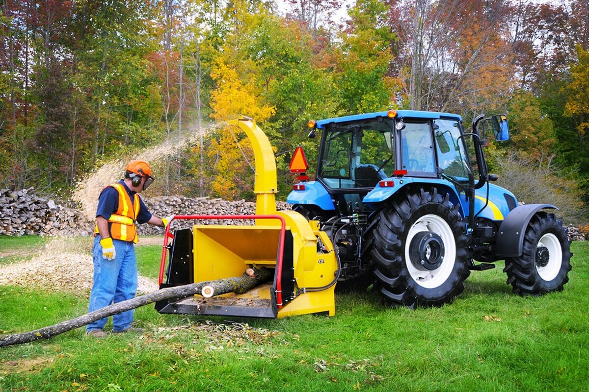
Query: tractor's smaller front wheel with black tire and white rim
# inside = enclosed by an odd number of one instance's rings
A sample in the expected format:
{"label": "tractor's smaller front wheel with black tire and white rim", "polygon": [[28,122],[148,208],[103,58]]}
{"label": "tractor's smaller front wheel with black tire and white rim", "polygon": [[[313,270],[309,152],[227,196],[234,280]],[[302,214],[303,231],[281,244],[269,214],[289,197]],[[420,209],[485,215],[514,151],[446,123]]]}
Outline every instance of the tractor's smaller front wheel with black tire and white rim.
{"label": "tractor's smaller front wheel with black tire and white rim", "polygon": [[570,241],[562,220],[539,212],[525,229],[523,253],[505,259],[507,283],[519,295],[561,291],[571,270]]}

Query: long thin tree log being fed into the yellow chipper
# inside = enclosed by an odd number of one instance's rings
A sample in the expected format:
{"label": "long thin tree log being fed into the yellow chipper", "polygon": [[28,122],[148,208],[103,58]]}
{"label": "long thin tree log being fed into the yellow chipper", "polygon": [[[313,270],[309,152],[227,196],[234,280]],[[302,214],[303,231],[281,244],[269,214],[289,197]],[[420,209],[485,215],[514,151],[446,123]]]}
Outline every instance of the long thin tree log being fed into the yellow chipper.
{"label": "long thin tree log being fed into the yellow chipper", "polygon": [[113,314],[121,313],[123,311],[131,310],[170,298],[185,298],[194,294],[200,294],[203,286],[212,286],[215,288],[215,295],[224,293],[241,294],[253,289],[259,284],[266,283],[272,278],[272,271],[266,268],[256,269],[254,276],[249,276],[244,273],[240,277],[230,277],[226,279],[213,280],[211,282],[200,282],[185,284],[183,286],[167,287],[166,289],[158,290],[157,292],[145,294],[140,297],[135,297],[130,300],[118,302],[102,309],[92,311],[84,314],[84,316],[76,317],[75,319],[62,321],[61,323],[52,326],[44,327],[38,330],[17,333],[12,335],[0,336],[0,347],[11,346],[12,344],[29,343],[30,341],[38,339],[50,339],[58,334],[70,331],[72,329],[85,326],[93,321],[100,320],[104,317],[112,316]]}

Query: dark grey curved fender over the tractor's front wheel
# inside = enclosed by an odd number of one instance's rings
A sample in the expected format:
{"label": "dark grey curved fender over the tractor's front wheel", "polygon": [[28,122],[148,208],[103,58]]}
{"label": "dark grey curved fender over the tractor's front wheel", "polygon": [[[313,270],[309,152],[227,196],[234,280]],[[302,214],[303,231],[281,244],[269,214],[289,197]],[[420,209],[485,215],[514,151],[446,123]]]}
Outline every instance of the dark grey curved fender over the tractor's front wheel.
{"label": "dark grey curved fender over the tractor's front wheel", "polygon": [[505,217],[497,233],[497,256],[519,257],[523,252],[525,229],[535,213],[544,208],[558,209],[550,204],[518,206]]}

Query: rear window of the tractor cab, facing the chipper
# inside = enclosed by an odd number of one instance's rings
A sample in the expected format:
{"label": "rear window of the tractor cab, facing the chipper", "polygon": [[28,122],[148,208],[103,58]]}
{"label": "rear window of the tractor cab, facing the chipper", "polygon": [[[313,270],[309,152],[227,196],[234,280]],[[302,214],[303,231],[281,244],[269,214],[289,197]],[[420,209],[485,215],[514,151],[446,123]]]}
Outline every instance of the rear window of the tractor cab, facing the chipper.
{"label": "rear window of the tractor cab, facing the chipper", "polygon": [[326,125],[319,177],[330,188],[374,187],[395,169],[392,120]]}

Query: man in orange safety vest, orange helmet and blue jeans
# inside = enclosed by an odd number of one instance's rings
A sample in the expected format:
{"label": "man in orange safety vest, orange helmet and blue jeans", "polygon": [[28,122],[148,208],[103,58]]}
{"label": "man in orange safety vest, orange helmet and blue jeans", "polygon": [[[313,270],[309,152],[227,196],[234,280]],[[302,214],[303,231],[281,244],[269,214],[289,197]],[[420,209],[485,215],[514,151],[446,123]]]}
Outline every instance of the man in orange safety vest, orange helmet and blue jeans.
{"label": "man in orange safety vest, orange helmet and blue jeans", "polygon": [[[135,222],[165,228],[173,219],[173,216],[161,219],[152,215],[139,197],[138,193],[147,189],[153,181],[147,162],[132,160],[126,167],[124,179],[102,189],[98,197],[92,249],[94,283],[88,313],[135,297],[137,260],[134,244],[138,241]],[[143,332],[131,325],[133,313],[131,309],[112,316],[112,332]],[[106,337],[102,329],[107,319],[88,324],[88,336]]]}

